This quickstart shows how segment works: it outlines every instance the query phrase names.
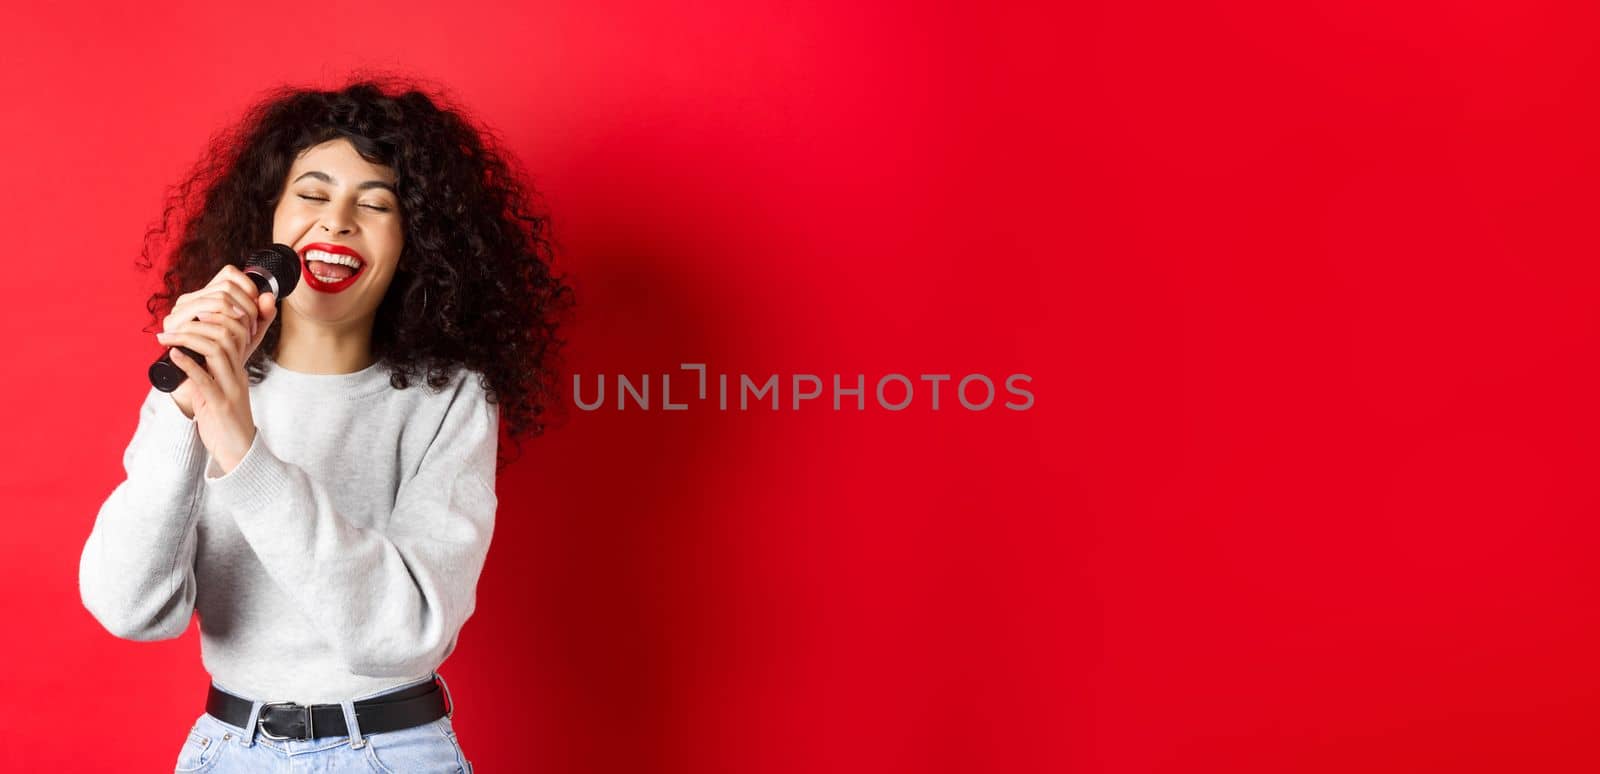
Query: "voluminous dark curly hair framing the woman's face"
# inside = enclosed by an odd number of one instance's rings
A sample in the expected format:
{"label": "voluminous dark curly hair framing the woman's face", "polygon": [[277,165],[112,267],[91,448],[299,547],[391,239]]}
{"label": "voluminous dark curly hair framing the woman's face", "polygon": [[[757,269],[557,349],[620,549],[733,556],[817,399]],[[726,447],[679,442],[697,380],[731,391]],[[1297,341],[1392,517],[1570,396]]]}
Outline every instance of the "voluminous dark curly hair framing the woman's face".
{"label": "voluminous dark curly hair framing the woman's face", "polygon": [[[280,86],[216,133],[146,232],[139,265],[152,269],[152,256],[168,264],[163,288],[146,304],[155,329],[178,296],[203,288],[226,264],[243,267],[272,241],[272,213],[294,158],[344,138],[397,176],[405,245],[371,339],[389,382],[406,389],[422,376],[440,389],[469,368],[482,374],[514,441],[541,435],[542,414],[560,406],[555,369],[565,341],[557,329],[573,305],[565,275],[552,273],[549,216],[534,209],[538,194],[520,182],[493,131],[437,86],[429,91],[371,75],[334,91]],[[251,384],[266,376],[278,334],[274,320],[246,363]]]}

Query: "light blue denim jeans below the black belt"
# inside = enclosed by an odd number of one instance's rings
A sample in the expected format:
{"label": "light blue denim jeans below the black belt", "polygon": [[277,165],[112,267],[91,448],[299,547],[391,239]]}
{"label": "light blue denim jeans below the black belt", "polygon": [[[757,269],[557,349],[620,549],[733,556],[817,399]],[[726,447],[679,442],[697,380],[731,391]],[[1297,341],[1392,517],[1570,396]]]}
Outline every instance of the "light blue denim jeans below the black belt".
{"label": "light blue denim jeans below the black belt", "polygon": [[344,707],[344,724],[350,729],[347,736],[269,739],[258,732],[256,718],[261,716],[261,707],[266,704],[259,699],[250,708],[250,728],[238,728],[222,723],[211,713],[202,713],[194,728],[189,729],[189,739],[184,740],[184,747],[178,753],[178,766],[173,771],[216,774],[286,774],[290,771],[296,774],[355,771],[366,774],[472,774],[472,763],[461,752],[461,742],[456,740],[456,729],[450,724],[448,716],[382,734],[363,734],[355,723],[355,702],[434,678],[438,678],[440,683],[445,681],[435,672],[424,680],[339,702]]}

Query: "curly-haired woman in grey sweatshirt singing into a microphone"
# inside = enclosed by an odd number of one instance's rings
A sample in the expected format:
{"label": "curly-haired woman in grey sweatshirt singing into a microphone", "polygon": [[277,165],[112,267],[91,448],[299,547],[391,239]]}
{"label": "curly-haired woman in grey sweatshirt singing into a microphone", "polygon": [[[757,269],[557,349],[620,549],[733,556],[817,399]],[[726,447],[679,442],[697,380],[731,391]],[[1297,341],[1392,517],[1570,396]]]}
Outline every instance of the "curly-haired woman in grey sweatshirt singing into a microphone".
{"label": "curly-haired woman in grey sweatshirt singing into a microphone", "polygon": [[[176,771],[470,772],[437,668],[475,606],[499,422],[542,432],[571,304],[528,194],[459,110],[376,82],[270,94],[176,189],[149,310],[205,363],[171,350],[187,379],[146,395],[78,566],[117,636],[200,616]],[[302,259],[283,299],[240,270],[269,243]]]}

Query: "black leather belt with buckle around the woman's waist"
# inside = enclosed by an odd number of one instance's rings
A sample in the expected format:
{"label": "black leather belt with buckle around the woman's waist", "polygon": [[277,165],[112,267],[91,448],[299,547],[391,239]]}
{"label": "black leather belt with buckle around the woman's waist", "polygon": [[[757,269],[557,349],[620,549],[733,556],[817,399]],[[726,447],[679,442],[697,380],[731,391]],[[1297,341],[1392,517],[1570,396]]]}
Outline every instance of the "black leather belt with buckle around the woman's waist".
{"label": "black leather belt with buckle around the woman's waist", "polygon": [[[216,684],[211,686],[205,699],[205,712],[238,728],[248,728],[251,707],[250,699],[234,696]],[[381,734],[432,723],[450,715],[451,710],[445,707],[445,692],[438,689],[438,681],[430,680],[355,702],[355,723],[362,726],[363,736]],[[344,707],[338,704],[264,704],[256,724],[261,726],[262,736],[280,740],[350,734],[349,726],[344,724]]]}

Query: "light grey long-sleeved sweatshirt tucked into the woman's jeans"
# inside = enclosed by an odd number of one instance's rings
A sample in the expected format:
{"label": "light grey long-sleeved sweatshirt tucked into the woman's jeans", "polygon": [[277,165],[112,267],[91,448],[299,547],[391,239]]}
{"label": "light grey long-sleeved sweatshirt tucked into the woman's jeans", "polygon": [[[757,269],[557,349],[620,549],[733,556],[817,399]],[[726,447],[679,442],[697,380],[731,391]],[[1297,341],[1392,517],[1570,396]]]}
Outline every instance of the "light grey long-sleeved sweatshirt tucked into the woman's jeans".
{"label": "light grey long-sleeved sweatshirt tucked into the woman's jeans", "polygon": [[475,371],[440,392],[286,371],[250,387],[256,438],[227,475],[154,387],[126,478],[78,561],[83,606],[126,640],[200,616],[213,681],[330,704],[414,683],[456,648],[494,531],[499,409]]}

